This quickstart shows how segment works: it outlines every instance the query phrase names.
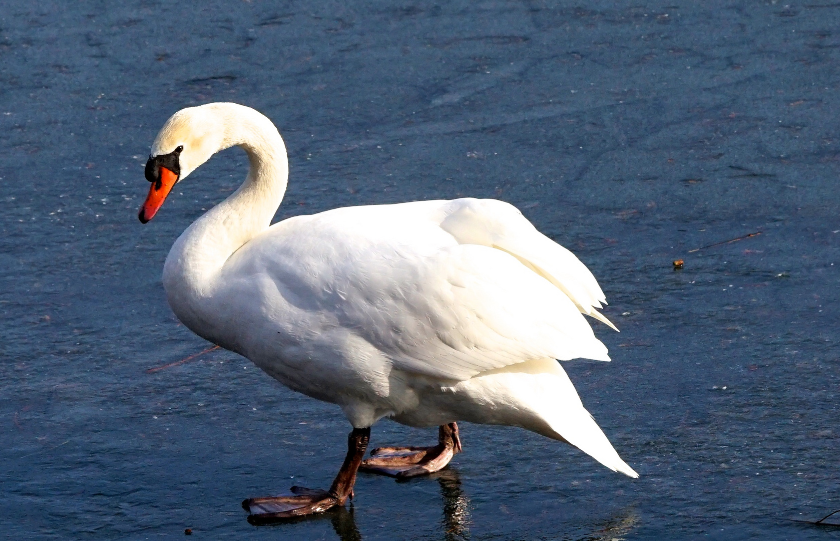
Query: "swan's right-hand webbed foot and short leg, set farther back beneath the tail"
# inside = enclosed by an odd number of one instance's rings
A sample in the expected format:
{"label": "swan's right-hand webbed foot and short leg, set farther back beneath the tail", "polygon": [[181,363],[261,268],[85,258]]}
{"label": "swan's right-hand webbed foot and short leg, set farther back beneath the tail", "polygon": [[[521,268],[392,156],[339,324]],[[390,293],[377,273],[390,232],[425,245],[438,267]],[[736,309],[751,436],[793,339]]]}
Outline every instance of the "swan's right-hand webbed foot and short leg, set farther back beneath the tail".
{"label": "swan's right-hand webbed foot and short leg, set farther back beneath the tail", "polygon": [[370,451],[370,459],[360,470],[391,477],[427,475],[444,469],[461,452],[458,425],[449,423],[438,429],[438,444],[433,447],[379,447]]}

